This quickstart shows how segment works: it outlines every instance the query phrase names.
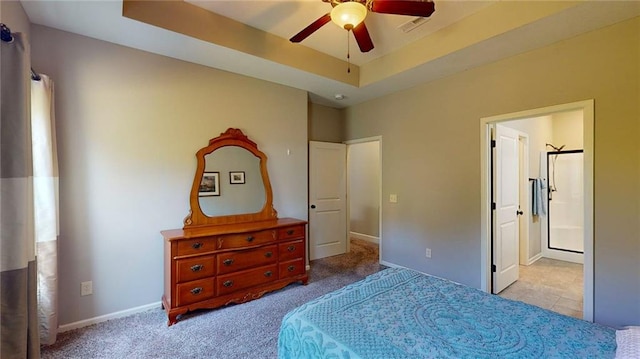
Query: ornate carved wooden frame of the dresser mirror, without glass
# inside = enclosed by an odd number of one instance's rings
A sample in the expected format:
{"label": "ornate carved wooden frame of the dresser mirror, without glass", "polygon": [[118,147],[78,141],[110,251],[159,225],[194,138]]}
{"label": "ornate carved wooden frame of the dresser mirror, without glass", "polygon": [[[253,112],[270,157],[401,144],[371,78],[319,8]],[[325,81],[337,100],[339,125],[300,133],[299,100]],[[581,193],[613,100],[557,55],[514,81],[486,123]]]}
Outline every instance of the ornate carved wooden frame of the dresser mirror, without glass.
{"label": "ornate carved wooden frame of the dresser mirror, without glass", "polygon": [[[200,207],[199,202],[199,189],[204,175],[206,161],[205,156],[213,151],[225,147],[225,146],[238,146],[251,152],[254,156],[260,159],[260,173],[262,174],[262,182],[264,184],[265,191],[265,203],[262,210],[256,213],[242,213],[232,215],[221,216],[207,216]],[[198,167],[193,179],[193,185],[191,186],[191,195],[189,197],[189,204],[191,209],[189,214],[184,219],[184,229],[211,226],[211,225],[223,225],[234,223],[246,223],[255,221],[264,221],[270,219],[277,219],[278,213],[273,208],[273,193],[271,190],[271,183],[269,182],[269,174],[267,173],[267,156],[258,149],[255,142],[251,141],[240,129],[229,128],[220,136],[209,140],[209,145],[200,149],[196,153],[198,160]]]}

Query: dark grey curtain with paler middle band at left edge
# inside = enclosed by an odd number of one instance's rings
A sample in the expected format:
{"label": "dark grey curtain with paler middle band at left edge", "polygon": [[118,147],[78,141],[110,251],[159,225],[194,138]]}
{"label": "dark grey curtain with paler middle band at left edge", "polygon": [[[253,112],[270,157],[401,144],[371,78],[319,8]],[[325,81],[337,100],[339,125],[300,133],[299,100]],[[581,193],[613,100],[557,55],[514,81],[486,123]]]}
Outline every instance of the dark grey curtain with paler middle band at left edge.
{"label": "dark grey curtain with paler middle band at left edge", "polygon": [[39,358],[30,66],[22,34],[0,44],[0,357]]}

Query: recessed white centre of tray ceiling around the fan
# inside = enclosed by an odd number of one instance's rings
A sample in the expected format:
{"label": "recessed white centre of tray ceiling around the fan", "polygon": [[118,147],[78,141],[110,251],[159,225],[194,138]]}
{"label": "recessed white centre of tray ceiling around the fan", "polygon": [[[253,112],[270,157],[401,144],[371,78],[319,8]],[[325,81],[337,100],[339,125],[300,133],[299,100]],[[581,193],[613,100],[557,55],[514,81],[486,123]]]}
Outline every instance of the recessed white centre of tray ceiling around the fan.
{"label": "recessed white centre of tray ceiling around the fan", "polygon": [[[289,39],[307,25],[331,11],[329,3],[321,0],[185,0],[216,14],[220,14],[260,30]],[[351,62],[365,64],[417,39],[459,21],[493,1],[438,1],[436,11],[413,31],[404,33],[398,27],[416,19],[412,16],[369,12],[365,24],[375,48],[361,53],[353,35],[348,35],[333,23],[328,23],[306,38],[301,44],[339,59],[347,55],[347,37],[351,46]]]}

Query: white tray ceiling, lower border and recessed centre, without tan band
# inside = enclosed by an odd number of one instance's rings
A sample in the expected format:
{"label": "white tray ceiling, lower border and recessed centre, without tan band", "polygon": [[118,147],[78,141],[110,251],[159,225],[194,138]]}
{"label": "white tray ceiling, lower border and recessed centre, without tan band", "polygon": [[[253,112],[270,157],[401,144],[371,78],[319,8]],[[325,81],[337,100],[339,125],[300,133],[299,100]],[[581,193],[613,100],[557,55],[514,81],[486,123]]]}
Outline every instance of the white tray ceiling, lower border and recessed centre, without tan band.
{"label": "white tray ceiling, lower border and recessed centre, without tan band", "polygon": [[[320,0],[186,1],[284,39],[295,35],[331,8]],[[443,56],[429,61],[420,60],[403,71],[376,79],[366,86],[353,86],[123,17],[122,1],[22,0],[21,3],[30,21],[35,24],[303,89],[309,92],[313,102],[337,108],[640,16],[640,1],[579,1],[575,6],[571,3],[567,9],[513,26],[509,31],[479,39]],[[532,2],[518,0],[518,3],[518,6],[527,6]],[[496,4],[500,3],[436,0],[436,11],[431,19],[406,34],[398,30],[398,26],[414,18],[370,13],[366,24],[375,49],[360,54],[351,37],[351,62],[360,65],[363,72],[370,64],[391,58],[393,54],[406,49],[407,45],[424,41],[436,33],[455,36],[456,22],[465,21],[476,13],[491,11]],[[504,19],[505,23],[511,20]],[[296,46],[307,46],[344,60],[347,35],[344,30],[329,23]],[[336,100],[335,94],[344,94],[345,99]]]}

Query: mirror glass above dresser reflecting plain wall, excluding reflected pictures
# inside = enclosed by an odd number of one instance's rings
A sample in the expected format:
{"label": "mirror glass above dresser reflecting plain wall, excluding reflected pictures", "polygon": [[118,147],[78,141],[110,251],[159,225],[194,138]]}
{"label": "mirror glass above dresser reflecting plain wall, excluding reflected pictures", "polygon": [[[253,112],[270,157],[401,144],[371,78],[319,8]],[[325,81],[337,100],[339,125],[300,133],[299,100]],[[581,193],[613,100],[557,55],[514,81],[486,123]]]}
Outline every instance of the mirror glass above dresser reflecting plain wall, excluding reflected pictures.
{"label": "mirror glass above dresser reflecting plain wall, excluding reflected pictures", "polygon": [[[204,156],[204,159],[205,176],[207,173],[219,173],[217,194],[198,198],[204,215],[214,217],[262,210],[266,195],[259,157],[242,147],[225,146]],[[232,172],[236,173],[235,180],[231,178]]]}

